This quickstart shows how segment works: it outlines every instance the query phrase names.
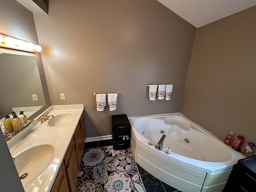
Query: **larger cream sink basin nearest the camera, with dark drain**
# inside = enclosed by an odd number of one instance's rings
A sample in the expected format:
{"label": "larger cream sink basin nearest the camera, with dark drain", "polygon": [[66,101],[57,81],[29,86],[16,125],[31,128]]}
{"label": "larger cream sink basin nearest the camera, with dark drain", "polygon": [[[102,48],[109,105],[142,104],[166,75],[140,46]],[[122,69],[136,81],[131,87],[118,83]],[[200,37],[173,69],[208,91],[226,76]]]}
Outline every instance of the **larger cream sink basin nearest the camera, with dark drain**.
{"label": "larger cream sink basin nearest the camera, with dark drain", "polygon": [[54,159],[54,154],[55,147],[53,145],[39,144],[14,155],[14,164],[20,178],[22,178],[22,183],[26,183],[41,174]]}

